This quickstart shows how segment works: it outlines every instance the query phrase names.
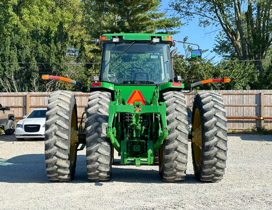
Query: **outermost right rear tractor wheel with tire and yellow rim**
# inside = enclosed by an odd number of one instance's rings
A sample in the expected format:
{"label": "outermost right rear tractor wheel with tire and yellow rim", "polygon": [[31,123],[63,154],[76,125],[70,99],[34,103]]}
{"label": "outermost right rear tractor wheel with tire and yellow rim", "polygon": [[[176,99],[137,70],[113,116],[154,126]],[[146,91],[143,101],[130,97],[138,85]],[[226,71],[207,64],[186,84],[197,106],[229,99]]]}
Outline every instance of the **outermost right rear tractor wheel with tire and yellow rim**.
{"label": "outermost right rear tractor wheel with tire and yellow rim", "polygon": [[[223,99],[218,93],[196,95],[193,115],[192,157],[195,176],[199,181],[218,182],[223,178],[227,160],[227,119]],[[193,133],[195,132],[195,134]]]}

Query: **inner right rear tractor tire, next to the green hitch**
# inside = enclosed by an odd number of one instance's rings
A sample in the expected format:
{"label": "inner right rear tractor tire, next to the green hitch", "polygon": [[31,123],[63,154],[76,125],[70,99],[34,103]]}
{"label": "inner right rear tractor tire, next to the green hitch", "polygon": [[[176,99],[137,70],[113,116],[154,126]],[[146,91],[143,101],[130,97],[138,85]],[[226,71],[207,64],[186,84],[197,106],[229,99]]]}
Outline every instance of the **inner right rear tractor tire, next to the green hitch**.
{"label": "inner right rear tractor tire, next to the green hitch", "polygon": [[188,158],[188,116],[184,95],[171,91],[163,93],[166,103],[168,137],[159,150],[159,173],[163,181],[185,178]]}

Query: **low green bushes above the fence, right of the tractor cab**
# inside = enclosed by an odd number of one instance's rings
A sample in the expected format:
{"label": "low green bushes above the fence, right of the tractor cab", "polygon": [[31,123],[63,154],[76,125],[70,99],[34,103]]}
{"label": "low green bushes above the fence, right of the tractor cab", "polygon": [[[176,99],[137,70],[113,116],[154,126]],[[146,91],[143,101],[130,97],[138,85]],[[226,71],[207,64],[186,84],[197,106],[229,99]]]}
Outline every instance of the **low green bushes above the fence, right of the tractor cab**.
{"label": "low green bushes above the fence, right of the tractor cab", "polygon": [[[183,41],[186,41],[187,37]],[[190,84],[212,78],[230,78],[230,83],[209,83],[193,89],[254,89],[262,88],[259,73],[251,63],[220,62],[213,63],[213,59],[191,59],[193,48],[183,45],[184,55],[179,53],[174,56],[175,74],[181,76],[185,89],[190,89]],[[205,51],[203,51],[205,53]]]}

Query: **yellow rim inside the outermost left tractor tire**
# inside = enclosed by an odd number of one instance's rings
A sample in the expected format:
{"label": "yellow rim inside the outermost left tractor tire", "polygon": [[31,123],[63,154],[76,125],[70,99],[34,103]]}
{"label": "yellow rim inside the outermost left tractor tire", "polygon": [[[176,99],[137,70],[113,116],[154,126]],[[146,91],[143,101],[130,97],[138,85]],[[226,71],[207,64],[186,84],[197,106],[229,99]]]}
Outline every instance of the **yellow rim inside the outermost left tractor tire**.
{"label": "yellow rim inside the outermost left tractor tire", "polygon": [[78,131],[76,131],[77,128],[77,119],[75,110],[73,108],[72,112],[72,119],[71,119],[71,136],[70,136],[70,157],[71,157],[71,163],[72,166],[75,163],[75,157],[76,157],[76,143],[78,142]]}

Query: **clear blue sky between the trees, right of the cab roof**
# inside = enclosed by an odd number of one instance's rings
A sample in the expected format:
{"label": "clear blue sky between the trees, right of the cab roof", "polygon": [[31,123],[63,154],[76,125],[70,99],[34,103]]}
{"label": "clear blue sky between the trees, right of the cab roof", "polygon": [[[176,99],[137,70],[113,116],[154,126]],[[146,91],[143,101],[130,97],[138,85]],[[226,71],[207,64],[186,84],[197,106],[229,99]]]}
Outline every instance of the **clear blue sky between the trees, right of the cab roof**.
{"label": "clear blue sky between the trees, right of the cab roof", "polygon": [[[161,7],[162,12],[165,12],[165,9],[167,8],[170,9],[168,4],[169,4],[169,0],[162,0],[162,7]],[[168,10],[167,15],[170,15],[170,13],[171,11]],[[181,19],[181,22],[184,23],[185,20]],[[203,58],[206,57],[207,59],[210,59],[216,56],[213,59],[214,62],[221,60],[221,57],[218,54],[211,53],[211,51],[213,50],[214,44],[216,43],[215,37],[217,33],[209,33],[213,31],[212,28],[200,27],[198,24],[198,18],[193,18],[193,20],[190,21],[188,24],[185,23],[185,25],[181,26],[180,29],[178,29],[178,31],[180,31],[179,34],[172,35],[174,40],[183,41],[183,38],[185,36],[188,36],[187,42],[198,44],[199,48],[202,50],[208,50],[206,53],[202,54]],[[183,45],[181,43],[176,44],[176,47],[178,47],[178,52],[180,52],[181,54],[184,53]]]}

